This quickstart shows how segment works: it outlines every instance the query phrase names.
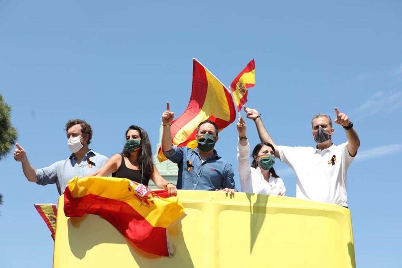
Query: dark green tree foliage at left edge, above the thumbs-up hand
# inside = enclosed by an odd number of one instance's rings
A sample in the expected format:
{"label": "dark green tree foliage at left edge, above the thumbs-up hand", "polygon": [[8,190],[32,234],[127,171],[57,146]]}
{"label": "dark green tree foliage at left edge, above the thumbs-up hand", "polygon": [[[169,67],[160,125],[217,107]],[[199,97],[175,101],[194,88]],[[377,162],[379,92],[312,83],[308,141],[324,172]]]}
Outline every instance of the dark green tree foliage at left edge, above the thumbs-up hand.
{"label": "dark green tree foliage at left edge, above the thumbs-up hand", "polygon": [[10,112],[11,107],[0,94],[0,160],[11,151],[18,137],[16,129],[11,125]]}

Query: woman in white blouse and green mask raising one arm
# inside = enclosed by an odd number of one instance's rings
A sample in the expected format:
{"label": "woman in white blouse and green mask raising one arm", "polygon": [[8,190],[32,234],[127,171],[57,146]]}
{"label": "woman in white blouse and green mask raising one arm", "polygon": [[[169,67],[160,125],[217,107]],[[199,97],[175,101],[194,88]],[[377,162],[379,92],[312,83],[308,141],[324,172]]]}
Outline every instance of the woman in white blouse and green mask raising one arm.
{"label": "woman in white blouse and green mask raising one arm", "polygon": [[271,143],[258,143],[253,151],[250,165],[250,145],[248,144],[246,123],[239,118],[237,160],[242,192],[254,194],[285,195],[283,180],[275,173],[275,150]]}

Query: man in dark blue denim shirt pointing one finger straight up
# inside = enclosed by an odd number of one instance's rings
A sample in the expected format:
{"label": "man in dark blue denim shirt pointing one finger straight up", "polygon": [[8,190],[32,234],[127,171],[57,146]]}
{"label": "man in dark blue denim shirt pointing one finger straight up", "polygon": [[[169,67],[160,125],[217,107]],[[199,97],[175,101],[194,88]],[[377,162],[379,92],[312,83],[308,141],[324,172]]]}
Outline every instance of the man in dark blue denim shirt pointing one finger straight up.
{"label": "man in dark blue denim shirt pointing one finger straight up", "polygon": [[162,151],[166,157],[178,165],[177,189],[223,190],[233,194],[236,190],[232,165],[223,160],[213,149],[218,140],[218,127],[209,120],[197,127],[198,147],[176,147],[172,145],[170,125],[174,113],[169,110],[162,114]]}

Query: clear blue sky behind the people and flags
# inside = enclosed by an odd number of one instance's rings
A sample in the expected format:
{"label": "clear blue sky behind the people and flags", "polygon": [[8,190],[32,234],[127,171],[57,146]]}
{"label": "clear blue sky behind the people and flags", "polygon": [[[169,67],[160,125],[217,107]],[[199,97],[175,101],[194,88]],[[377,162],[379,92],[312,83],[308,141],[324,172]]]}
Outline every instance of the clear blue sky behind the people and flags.
{"label": "clear blue sky behind the people and flags", "polygon": [[[247,106],[279,145],[311,145],[311,117],[334,107],[361,139],[348,172],[358,267],[399,267],[402,4],[399,1],[0,1],[0,93],[35,168],[66,159],[63,130],[81,118],[92,148],[121,151],[131,124],[158,142],[165,103],[180,115],[192,58],[229,85],[252,58]],[[252,145],[258,142],[248,123]],[[333,141],[346,141],[335,127]],[[237,170],[235,124],[216,149]],[[277,161],[295,196],[295,175]],[[10,154],[0,161],[0,266],[50,267],[53,241],[34,203],[55,185],[27,182]],[[236,183],[240,186],[238,176]],[[398,212],[399,211],[399,212]]]}

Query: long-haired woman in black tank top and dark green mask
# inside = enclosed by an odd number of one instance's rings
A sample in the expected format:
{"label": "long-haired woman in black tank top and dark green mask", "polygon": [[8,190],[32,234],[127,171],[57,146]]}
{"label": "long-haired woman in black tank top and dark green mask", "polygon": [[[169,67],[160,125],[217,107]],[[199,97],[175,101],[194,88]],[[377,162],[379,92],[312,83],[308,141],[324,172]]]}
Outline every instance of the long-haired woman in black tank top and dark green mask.
{"label": "long-haired woman in black tank top and dark green mask", "polygon": [[141,127],[131,125],[125,134],[123,151],[112,155],[105,166],[89,176],[109,176],[127,178],[148,186],[151,179],[158,188],[167,189],[170,194],[176,193],[174,184],[162,176],[152,162],[151,143],[148,133]]}

